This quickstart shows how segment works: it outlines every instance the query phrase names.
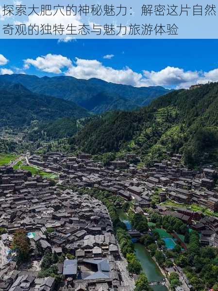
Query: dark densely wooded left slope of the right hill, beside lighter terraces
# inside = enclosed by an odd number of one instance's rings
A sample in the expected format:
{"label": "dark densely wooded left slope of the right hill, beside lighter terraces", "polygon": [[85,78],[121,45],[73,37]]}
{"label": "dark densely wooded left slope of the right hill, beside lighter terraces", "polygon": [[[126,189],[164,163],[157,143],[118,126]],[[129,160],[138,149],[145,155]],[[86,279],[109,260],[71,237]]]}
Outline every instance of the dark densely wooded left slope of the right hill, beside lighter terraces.
{"label": "dark densely wooded left slope of the right hill, beside lighter terraces", "polygon": [[92,154],[118,151],[133,138],[142,120],[138,112],[105,113],[93,118],[70,143]]}

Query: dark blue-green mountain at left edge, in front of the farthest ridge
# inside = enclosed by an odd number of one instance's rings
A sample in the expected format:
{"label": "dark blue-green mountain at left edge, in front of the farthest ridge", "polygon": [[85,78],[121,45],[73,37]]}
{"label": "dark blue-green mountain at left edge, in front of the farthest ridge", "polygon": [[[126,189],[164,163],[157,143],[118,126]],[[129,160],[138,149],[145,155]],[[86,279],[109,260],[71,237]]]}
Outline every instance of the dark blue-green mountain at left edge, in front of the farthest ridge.
{"label": "dark blue-green mountain at left edge, in front of the farthest ridge", "polygon": [[81,118],[90,114],[75,103],[36,94],[21,84],[0,81],[0,126],[26,126],[65,116]]}

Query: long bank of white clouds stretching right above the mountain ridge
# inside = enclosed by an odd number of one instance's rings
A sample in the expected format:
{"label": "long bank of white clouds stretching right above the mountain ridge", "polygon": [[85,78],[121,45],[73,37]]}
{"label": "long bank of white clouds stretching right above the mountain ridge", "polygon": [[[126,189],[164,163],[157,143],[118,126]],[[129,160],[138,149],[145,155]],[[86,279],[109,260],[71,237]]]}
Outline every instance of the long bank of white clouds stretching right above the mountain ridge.
{"label": "long bank of white clouds stretching right above the mountain ridge", "polygon": [[98,60],[75,58],[75,61],[71,61],[65,56],[53,54],[24,60],[24,69],[28,69],[30,65],[48,73],[63,73],[66,76],[85,80],[98,78],[107,82],[135,87],[158,85],[180,89],[188,88],[196,83],[218,81],[218,68],[202,72],[185,71],[183,68],[167,66],[160,71],[143,70],[142,72],[135,72],[127,66],[122,69],[115,69],[103,65]]}

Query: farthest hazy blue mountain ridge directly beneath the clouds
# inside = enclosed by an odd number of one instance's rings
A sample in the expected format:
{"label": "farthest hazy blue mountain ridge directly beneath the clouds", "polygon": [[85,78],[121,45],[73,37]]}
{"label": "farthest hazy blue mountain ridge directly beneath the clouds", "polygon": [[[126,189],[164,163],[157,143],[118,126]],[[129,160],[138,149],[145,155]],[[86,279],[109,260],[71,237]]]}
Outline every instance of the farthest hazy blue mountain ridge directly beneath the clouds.
{"label": "farthest hazy blue mountain ridge directly beneath the clouds", "polygon": [[81,80],[68,76],[36,77],[24,74],[1,75],[0,81],[20,83],[37,94],[75,102],[94,113],[108,110],[132,110],[170,90],[160,86],[136,88],[99,79]]}

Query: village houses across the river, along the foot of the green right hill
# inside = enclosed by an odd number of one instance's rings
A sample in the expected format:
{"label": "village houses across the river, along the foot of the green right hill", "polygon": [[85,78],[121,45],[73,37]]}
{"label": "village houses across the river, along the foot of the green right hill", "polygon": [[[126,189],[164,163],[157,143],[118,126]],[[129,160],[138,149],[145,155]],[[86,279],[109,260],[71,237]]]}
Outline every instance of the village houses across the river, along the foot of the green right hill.
{"label": "village houses across the river, along the foot of the green right hill", "polygon": [[[188,170],[182,165],[179,154],[173,155],[170,161],[154,161],[150,168],[137,169],[136,165],[128,162],[134,158],[134,154],[127,154],[126,160],[112,161],[106,167],[84,153],[78,157],[67,157],[51,152],[43,156],[33,155],[27,160],[32,165],[58,172],[62,185],[93,187],[119,195],[127,201],[134,200],[136,212],[144,213],[144,208],[151,207],[154,191],[158,187],[156,210],[162,215],[181,219],[195,230],[209,228],[206,235],[203,232],[201,243],[218,247],[218,217],[188,209],[194,203],[212,214],[218,212],[217,170],[212,166],[202,171]],[[167,199],[186,207],[162,205]]]}

